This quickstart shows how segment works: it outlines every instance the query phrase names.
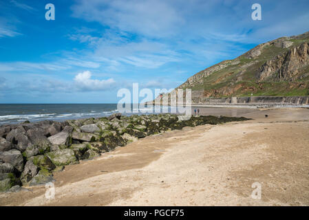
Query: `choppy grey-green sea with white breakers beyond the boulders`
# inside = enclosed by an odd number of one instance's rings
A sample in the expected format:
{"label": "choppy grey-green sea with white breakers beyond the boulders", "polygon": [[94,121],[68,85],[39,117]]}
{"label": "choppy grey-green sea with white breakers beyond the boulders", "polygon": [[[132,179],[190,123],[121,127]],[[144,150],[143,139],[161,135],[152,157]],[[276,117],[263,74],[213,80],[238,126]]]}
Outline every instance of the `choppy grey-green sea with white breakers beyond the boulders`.
{"label": "choppy grey-green sea with white breakers beyond the boulders", "polygon": [[[132,113],[122,113],[122,115],[149,114],[143,111],[145,109],[134,109],[133,105],[131,110]],[[0,104],[0,124],[16,124],[26,120],[37,122],[102,118],[117,112],[117,104]],[[160,113],[166,112],[173,112],[173,110],[171,107],[160,107]]]}

